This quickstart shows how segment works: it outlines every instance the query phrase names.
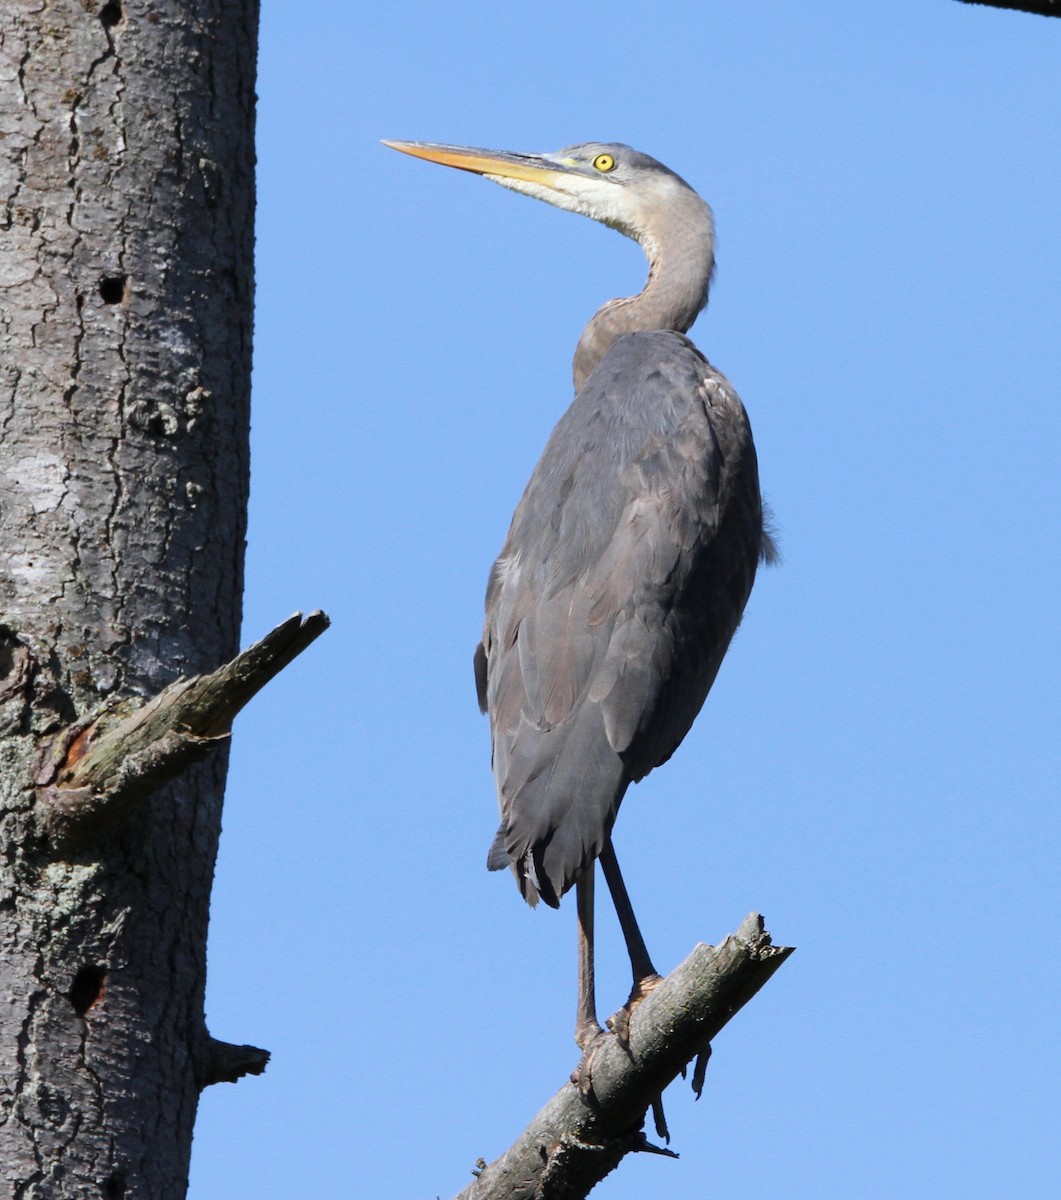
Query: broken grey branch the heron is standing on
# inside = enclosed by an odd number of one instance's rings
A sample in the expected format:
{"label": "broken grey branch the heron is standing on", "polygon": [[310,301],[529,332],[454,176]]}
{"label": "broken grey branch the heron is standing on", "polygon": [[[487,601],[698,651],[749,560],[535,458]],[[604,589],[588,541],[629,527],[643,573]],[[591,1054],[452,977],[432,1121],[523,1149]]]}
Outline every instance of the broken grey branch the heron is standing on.
{"label": "broken grey branch the heron is standing on", "polygon": [[703,1060],[711,1039],[791,953],[771,944],[759,913],[720,946],[697,946],[635,1008],[629,1051],[613,1037],[598,1044],[589,1099],[564,1084],[456,1200],[577,1200],[624,1154],[653,1150],[642,1133],[653,1100],[693,1058]]}

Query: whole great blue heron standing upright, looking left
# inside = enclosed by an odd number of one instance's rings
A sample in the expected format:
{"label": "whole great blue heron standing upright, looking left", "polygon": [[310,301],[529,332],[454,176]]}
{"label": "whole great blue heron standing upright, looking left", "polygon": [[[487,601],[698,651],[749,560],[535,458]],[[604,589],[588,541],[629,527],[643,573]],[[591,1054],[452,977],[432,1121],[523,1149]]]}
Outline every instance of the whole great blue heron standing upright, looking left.
{"label": "whole great blue heron standing upright, looking left", "polygon": [[711,209],[648,155],[611,143],[523,155],[424,142],[395,150],[570,209],[641,244],[648,282],[610,300],[575,350],[575,400],[490,575],[475,652],[500,828],[492,870],[553,907],[576,887],[575,1039],[604,1033],[593,988],[600,858],[634,971],[629,1013],[658,982],[619,874],[612,823],[631,782],[666,762],[714,682],[751,592],[763,532],[739,398],[684,332],[707,304]]}

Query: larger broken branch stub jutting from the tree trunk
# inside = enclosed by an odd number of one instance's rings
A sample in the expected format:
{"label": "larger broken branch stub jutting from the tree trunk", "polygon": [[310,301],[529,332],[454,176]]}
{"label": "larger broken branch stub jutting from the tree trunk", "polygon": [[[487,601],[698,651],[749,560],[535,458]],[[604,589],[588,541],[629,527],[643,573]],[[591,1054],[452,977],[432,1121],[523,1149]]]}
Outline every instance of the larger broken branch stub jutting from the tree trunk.
{"label": "larger broken branch stub jutting from the tree trunk", "polygon": [[145,704],[107,708],[67,730],[36,778],[52,834],[88,832],[204,758],[328,624],[323,612],[295,613],[211,674],[176,679]]}

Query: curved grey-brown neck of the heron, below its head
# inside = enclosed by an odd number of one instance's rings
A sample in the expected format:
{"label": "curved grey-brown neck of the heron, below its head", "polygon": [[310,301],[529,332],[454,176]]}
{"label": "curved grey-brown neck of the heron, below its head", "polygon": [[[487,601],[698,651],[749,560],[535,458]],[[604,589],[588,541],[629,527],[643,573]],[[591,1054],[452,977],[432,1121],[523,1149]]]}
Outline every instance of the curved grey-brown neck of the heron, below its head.
{"label": "curved grey-brown neck of the heron, below its head", "polygon": [[583,330],[575,349],[576,392],[616,338],[649,329],[684,334],[707,304],[714,270],[711,209],[694,192],[688,197],[683,211],[669,214],[665,233],[631,230],[648,258],[648,282],[636,296],[609,300]]}

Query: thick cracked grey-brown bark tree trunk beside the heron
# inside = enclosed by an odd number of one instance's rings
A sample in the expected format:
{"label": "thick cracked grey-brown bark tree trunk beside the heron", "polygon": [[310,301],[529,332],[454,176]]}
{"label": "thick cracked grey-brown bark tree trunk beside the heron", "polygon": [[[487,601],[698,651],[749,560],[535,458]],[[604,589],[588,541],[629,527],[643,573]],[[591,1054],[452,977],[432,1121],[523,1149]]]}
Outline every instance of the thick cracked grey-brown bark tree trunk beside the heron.
{"label": "thick cracked grey-brown bark tree trunk beside the heron", "polygon": [[254,1069],[203,1015],[223,746],[54,817],[91,718],[236,649],[257,8],[0,17],[5,1195],[184,1195],[200,1087]]}

